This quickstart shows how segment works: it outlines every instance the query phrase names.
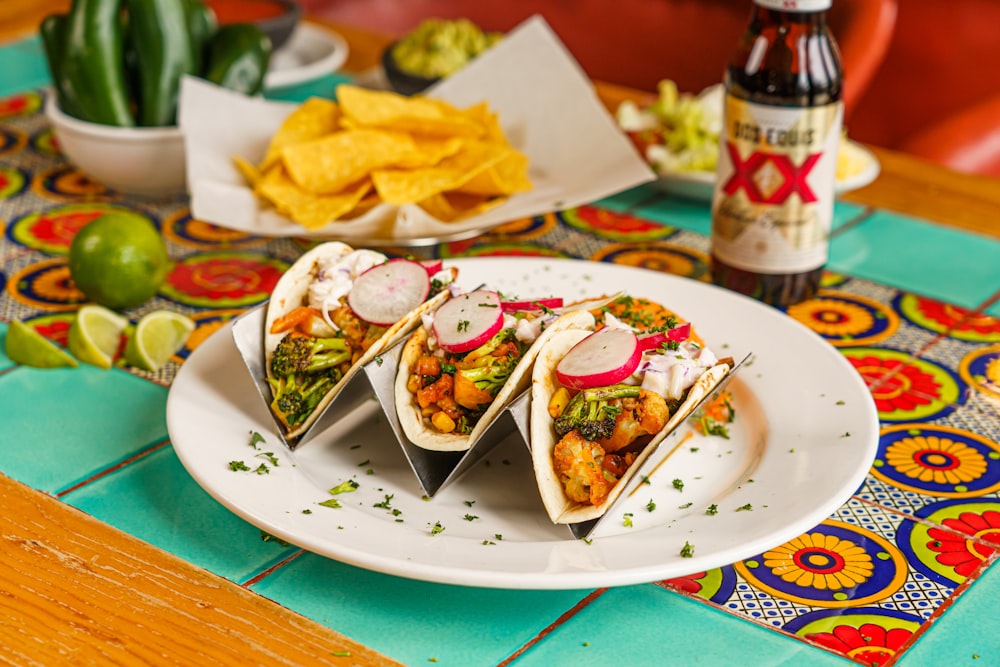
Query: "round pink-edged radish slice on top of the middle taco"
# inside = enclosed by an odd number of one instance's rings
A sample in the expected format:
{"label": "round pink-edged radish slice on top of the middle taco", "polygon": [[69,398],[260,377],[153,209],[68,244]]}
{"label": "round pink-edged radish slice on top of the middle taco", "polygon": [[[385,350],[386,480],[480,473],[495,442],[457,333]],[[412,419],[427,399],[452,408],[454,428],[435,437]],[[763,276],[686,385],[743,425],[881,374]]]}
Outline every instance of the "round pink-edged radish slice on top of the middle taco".
{"label": "round pink-edged radish slice on top of the middle taco", "polygon": [[502,327],[500,295],[490,290],[454,296],[434,313],[434,337],[445,352],[474,350]]}

